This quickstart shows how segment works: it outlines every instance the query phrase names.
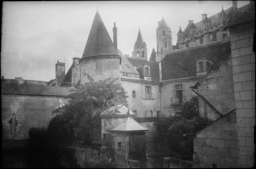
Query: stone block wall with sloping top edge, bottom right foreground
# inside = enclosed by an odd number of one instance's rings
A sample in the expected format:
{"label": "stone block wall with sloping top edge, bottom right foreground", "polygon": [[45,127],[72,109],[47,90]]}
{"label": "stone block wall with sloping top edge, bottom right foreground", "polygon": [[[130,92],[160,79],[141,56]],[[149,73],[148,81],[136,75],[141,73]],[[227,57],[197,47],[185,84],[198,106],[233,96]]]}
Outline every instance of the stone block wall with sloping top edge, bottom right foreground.
{"label": "stone block wall with sloping top edge, bottom right foreground", "polygon": [[195,168],[238,166],[236,112],[222,116],[194,137]]}

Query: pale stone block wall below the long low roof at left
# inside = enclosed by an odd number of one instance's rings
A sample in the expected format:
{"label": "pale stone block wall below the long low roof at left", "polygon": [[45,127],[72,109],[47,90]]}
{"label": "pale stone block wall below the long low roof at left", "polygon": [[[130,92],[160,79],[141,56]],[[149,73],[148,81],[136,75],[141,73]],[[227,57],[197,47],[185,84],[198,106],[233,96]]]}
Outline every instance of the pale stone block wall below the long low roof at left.
{"label": "pale stone block wall below the long low roof at left", "polygon": [[[1,95],[2,140],[27,139],[32,127],[46,127],[64,96]],[[15,122],[14,122],[15,121]]]}

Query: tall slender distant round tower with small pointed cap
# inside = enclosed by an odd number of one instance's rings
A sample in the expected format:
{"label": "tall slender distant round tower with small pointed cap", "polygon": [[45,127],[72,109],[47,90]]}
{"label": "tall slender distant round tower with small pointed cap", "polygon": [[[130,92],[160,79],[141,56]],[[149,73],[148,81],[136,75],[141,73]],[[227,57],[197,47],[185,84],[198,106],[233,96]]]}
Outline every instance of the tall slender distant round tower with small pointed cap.
{"label": "tall slender distant round tower with small pointed cap", "polygon": [[172,51],[172,31],[164,21],[164,17],[158,22],[156,42],[156,61],[160,62],[168,52]]}

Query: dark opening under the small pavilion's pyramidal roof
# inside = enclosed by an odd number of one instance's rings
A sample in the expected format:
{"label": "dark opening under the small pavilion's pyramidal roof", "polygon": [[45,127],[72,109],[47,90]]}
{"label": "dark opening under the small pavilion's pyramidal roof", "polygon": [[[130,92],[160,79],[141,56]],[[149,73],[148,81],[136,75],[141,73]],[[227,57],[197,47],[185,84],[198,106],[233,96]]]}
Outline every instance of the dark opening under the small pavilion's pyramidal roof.
{"label": "dark opening under the small pavilion's pyramidal roof", "polygon": [[130,134],[130,154],[133,160],[140,161],[140,168],[146,168],[146,142],[145,132]]}

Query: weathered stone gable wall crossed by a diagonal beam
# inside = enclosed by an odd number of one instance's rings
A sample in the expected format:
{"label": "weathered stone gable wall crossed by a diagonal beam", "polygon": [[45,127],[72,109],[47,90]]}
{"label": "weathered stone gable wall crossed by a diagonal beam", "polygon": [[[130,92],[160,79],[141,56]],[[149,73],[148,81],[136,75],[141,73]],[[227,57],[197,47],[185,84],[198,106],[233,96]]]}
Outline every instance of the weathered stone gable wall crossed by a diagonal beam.
{"label": "weathered stone gable wall crossed by a diagonal beam", "polygon": [[[217,71],[207,74],[198,85],[198,93],[208,100],[222,115],[235,109],[234,87],[232,81],[231,60],[222,61]],[[201,117],[216,120],[220,116],[200,97],[199,113]]]}

